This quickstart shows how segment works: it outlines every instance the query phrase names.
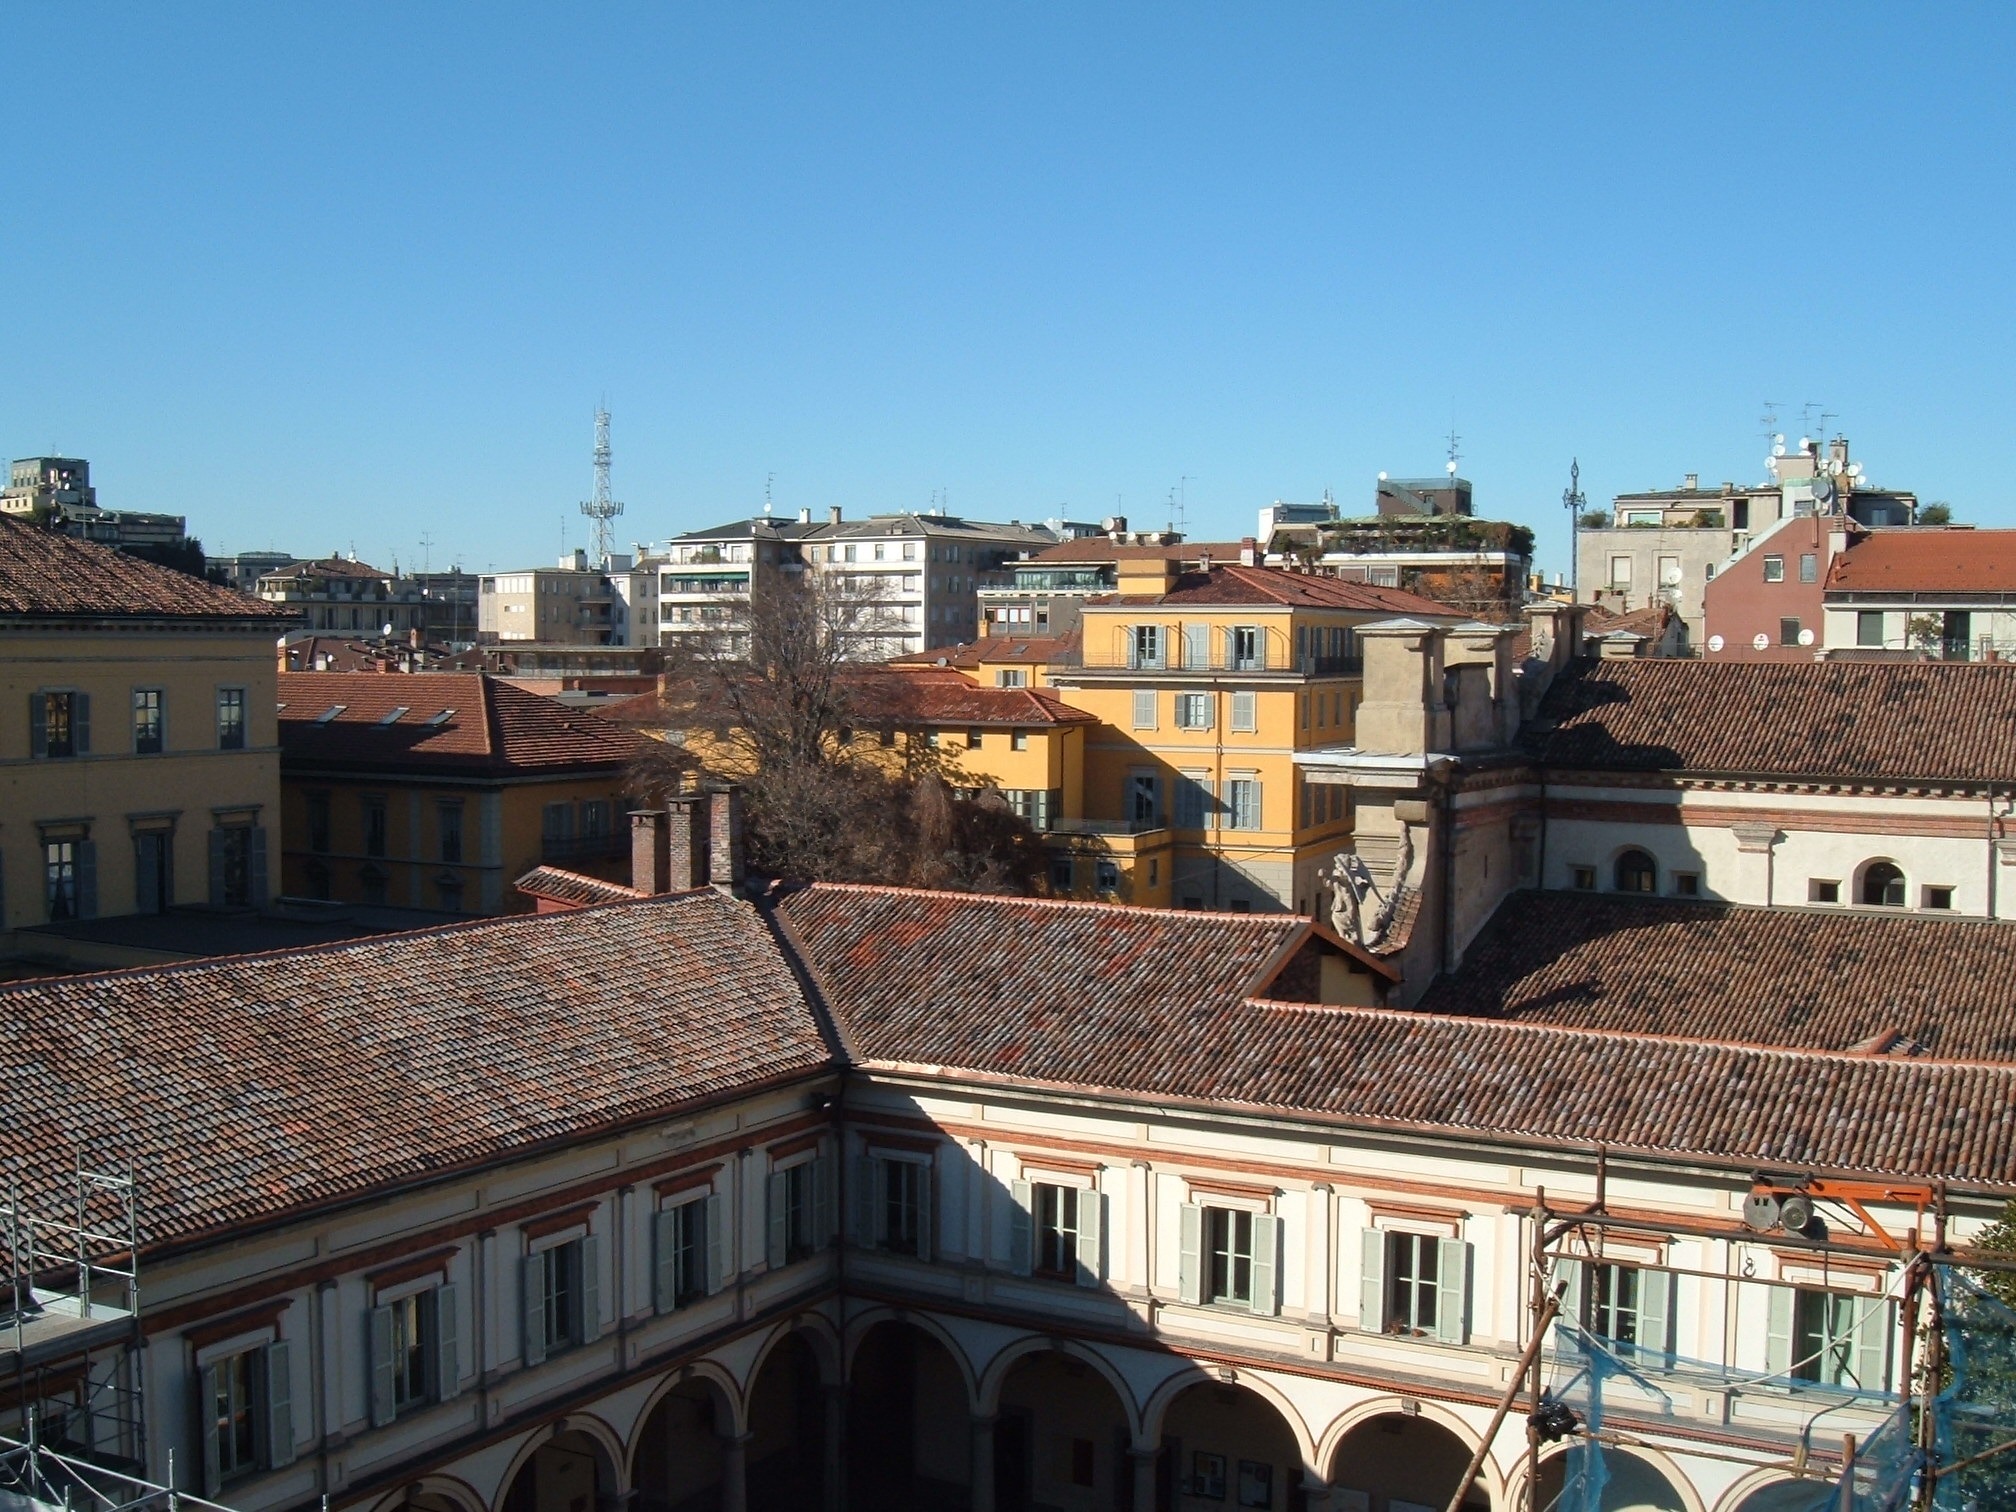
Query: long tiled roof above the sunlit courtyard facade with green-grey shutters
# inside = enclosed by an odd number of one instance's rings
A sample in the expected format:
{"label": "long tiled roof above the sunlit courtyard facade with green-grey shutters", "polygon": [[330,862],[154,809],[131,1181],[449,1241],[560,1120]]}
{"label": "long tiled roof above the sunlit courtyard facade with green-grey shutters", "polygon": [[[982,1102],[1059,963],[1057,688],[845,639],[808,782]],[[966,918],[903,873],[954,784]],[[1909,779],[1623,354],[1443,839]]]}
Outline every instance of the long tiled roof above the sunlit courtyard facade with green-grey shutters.
{"label": "long tiled roof above the sunlit courtyard facade with green-grey shutters", "polygon": [[1242,978],[1298,919],[825,885],[784,911],[871,1064],[1355,1127],[2016,1183],[2016,1066],[1242,1000]]}

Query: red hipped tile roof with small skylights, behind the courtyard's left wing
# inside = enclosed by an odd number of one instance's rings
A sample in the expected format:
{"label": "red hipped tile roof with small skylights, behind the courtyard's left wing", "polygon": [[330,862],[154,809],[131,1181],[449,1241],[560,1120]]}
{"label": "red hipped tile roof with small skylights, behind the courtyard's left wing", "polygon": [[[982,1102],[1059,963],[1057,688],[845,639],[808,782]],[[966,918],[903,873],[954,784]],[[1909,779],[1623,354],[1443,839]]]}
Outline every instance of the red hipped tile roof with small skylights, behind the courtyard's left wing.
{"label": "red hipped tile roof with small skylights, behind the courtyard's left wing", "polygon": [[619,768],[641,740],[599,714],[482,673],[280,673],[280,756],[290,766]]}

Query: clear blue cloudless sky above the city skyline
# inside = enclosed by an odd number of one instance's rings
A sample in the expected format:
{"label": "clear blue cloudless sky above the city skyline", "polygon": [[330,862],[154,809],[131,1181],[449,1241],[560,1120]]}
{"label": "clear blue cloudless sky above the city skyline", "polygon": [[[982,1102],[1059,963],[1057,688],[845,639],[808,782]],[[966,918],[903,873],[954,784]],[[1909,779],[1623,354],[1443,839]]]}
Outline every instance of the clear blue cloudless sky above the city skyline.
{"label": "clear blue cloudless sky above the city skyline", "polygon": [[1760,478],[2016,524],[2012,10],[0,8],[0,448],[212,550]]}

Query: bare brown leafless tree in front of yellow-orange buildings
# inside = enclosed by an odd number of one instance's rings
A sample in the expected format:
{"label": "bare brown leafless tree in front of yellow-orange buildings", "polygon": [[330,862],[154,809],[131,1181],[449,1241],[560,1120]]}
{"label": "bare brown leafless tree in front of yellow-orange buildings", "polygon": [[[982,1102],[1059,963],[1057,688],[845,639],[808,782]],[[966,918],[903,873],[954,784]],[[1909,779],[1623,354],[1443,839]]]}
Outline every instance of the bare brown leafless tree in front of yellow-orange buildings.
{"label": "bare brown leafless tree in front of yellow-orange buildings", "polygon": [[[704,740],[651,742],[637,792],[740,782],[750,865],[774,877],[1032,891],[1042,847],[998,792],[960,798],[976,784],[935,748],[879,744],[905,726],[911,687],[861,661],[889,633],[885,611],[845,583],[758,585],[746,617],[667,647],[663,724]],[[855,732],[885,760],[843,742]]]}

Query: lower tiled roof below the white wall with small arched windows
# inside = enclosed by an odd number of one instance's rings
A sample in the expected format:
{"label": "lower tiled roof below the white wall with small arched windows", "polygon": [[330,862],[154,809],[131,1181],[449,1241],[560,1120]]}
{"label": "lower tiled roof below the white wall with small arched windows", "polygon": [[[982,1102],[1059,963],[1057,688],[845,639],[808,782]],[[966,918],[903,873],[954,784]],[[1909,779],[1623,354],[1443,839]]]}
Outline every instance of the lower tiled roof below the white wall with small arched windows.
{"label": "lower tiled roof below the white wall with small arched windows", "polygon": [[2016,925],[1613,893],[1516,893],[1427,1012],[2016,1060]]}

